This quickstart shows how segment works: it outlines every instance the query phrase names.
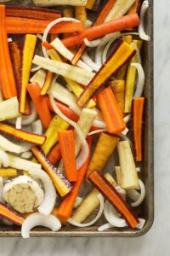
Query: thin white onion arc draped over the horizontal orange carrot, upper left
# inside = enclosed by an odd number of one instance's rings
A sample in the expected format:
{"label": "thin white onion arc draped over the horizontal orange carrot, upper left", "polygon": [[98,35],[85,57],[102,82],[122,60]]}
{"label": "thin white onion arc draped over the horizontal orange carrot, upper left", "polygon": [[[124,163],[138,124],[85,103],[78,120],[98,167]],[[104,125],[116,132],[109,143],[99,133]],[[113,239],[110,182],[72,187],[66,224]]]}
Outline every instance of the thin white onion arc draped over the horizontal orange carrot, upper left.
{"label": "thin white onion arc draped over the horizontal orange carrot, upper left", "polygon": [[[74,19],[74,18],[66,18],[66,17],[63,17],[63,18],[58,18],[56,20],[53,20],[52,22],[50,22],[48,24],[48,26],[46,26],[44,32],[43,32],[43,36],[42,36],[42,42],[43,41],[47,41],[47,38],[48,38],[48,32],[50,31],[50,29],[57,23],[59,22],[63,22],[63,21],[71,21],[71,22],[80,22],[80,20],[77,20],[77,19]],[[47,52],[47,49],[45,49],[45,47],[42,46],[42,53],[44,55],[44,57],[48,58],[48,52]]]}

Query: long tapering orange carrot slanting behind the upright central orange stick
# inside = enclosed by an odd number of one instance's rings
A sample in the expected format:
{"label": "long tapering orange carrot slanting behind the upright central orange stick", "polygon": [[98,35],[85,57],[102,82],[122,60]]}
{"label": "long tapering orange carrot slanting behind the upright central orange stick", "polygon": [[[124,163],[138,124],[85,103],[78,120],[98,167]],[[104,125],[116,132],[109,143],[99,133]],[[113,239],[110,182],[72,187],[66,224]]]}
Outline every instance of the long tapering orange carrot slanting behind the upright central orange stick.
{"label": "long tapering orange carrot slanting behind the upright central orange stick", "polygon": [[74,203],[77,199],[78,192],[81,188],[83,178],[85,176],[85,173],[88,170],[88,163],[90,160],[90,148],[92,146],[92,139],[93,139],[93,137],[87,138],[88,147],[89,147],[88,159],[82,165],[82,167],[77,171],[77,181],[75,183],[73,183],[73,189],[71,190],[70,194],[65,196],[64,200],[61,202],[61,204],[59,206],[57,213],[60,218],[68,219],[71,216],[71,212],[74,207]]}

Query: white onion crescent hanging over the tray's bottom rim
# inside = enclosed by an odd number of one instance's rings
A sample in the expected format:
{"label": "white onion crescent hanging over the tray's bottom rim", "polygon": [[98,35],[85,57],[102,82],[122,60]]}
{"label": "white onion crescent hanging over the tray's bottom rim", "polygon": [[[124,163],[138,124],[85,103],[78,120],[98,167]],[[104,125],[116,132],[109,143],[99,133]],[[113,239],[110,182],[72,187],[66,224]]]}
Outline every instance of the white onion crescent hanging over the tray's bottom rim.
{"label": "white onion crescent hanging over the tray's bottom rim", "polygon": [[49,216],[42,216],[40,213],[36,212],[28,216],[23,222],[21,236],[23,238],[29,238],[30,230],[35,226],[47,227],[53,231],[58,231],[61,228],[59,219],[54,215],[50,214]]}

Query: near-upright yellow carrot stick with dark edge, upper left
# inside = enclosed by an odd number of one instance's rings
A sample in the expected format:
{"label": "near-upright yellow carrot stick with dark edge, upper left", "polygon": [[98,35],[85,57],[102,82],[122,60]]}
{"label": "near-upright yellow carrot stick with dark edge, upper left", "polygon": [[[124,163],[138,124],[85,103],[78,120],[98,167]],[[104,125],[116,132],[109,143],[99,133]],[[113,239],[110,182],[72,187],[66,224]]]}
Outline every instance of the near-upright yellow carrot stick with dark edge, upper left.
{"label": "near-upright yellow carrot stick with dark edge, upper left", "polygon": [[20,113],[26,112],[26,85],[30,79],[31,63],[37,43],[35,35],[27,34],[22,53],[21,91],[20,91]]}

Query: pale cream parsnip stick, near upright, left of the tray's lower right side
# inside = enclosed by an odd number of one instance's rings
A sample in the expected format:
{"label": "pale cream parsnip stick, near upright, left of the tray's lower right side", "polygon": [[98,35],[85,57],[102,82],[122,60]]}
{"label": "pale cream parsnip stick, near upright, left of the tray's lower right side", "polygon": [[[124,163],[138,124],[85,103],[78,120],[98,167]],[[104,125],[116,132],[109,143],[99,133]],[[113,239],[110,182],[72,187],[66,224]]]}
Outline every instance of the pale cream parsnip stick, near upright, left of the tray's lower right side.
{"label": "pale cream parsnip stick, near upright, left of the tray's lower right side", "polygon": [[117,150],[121,167],[122,189],[137,189],[139,178],[130,143],[127,140],[118,143]]}

